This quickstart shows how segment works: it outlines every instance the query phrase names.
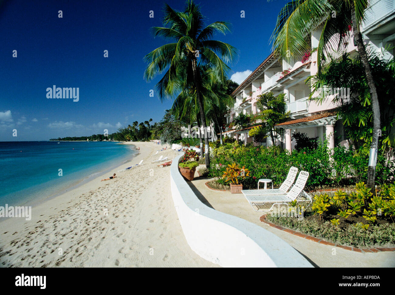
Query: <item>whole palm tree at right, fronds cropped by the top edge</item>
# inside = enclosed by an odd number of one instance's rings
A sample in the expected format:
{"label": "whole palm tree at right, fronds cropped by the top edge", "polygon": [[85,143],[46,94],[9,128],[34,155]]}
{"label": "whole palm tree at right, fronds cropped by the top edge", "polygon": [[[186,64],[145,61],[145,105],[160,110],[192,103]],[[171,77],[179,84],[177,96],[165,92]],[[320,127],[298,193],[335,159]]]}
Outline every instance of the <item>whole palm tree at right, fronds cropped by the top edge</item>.
{"label": "whole palm tree at right, fronds cropped by the top edge", "polygon": [[289,2],[278,14],[272,41],[277,55],[285,59],[296,57],[310,49],[309,34],[306,34],[306,32],[311,32],[323,25],[317,48],[317,63],[320,71],[322,61],[325,61],[326,58],[325,55],[328,55],[333,49],[340,49],[344,44],[342,40],[349,37],[346,32],[348,32],[348,26],[352,24],[354,44],[358,48],[365,71],[374,114],[374,131],[367,173],[367,186],[373,188],[376,174],[378,135],[381,129],[376,85],[359,29],[366,8],[367,0],[296,0]]}

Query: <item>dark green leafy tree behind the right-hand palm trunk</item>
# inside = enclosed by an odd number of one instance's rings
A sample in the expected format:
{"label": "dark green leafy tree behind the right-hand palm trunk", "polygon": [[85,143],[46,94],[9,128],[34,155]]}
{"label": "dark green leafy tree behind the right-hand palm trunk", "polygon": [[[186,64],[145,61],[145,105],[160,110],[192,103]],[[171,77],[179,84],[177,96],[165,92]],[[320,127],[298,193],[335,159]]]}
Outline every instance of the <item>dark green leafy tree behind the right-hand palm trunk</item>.
{"label": "dark green leafy tree behind the right-hand palm trunk", "polygon": [[[390,153],[395,148],[395,61],[393,58],[382,59],[381,53],[368,48],[367,55],[377,88],[378,100],[380,104],[380,122],[382,136],[379,139],[378,147],[382,155]],[[347,101],[342,96],[335,95],[333,102],[340,104],[337,116],[342,119],[344,131],[347,137],[352,140],[353,145],[359,150],[362,148],[364,154],[369,154],[373,135],[373,111],[371,96],[366,77],[361,75],[363,66],[359,55],[350,57],[348,53],[342,55],[339,60],[331,60],[323,72],[311,76],[313,89],[320,85],[327,85],[332,88],[344,89],[349,87],[354,93]],[[322,100],[319,96],[317,100]]]}

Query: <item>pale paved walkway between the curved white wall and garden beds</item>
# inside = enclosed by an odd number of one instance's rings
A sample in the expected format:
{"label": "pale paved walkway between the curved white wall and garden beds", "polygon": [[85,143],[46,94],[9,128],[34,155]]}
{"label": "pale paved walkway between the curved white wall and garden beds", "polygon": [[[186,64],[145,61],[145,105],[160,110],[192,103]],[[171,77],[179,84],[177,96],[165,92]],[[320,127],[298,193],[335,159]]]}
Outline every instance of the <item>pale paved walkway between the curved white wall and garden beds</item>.
{"label": "pale paved walkway between the curved white wall and garden beds", "polygon": [[358,253],[339,247],[319,244],[282,230],[273,228],[260,221],[264,212],[255,212],[243,194],[231,194],[229,191],[217,191],[207,188],[207,178],[195,174],[193,181],[188,181],[198,198],[215,210],[243,218],[255,223],[276,236],[282,238],[293,248],[303,254],[310,263],[318,267],[394,267],[395,252]]}

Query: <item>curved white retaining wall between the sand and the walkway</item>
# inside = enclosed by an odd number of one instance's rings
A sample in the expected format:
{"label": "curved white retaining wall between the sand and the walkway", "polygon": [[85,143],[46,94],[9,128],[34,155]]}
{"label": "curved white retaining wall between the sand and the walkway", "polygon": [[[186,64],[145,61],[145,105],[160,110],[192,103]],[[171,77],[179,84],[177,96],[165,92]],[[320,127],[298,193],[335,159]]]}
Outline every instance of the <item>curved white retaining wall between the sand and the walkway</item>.
{"label": "curved white retaining wall between the sand and the walkway", "polygon": [[221,266],[313,267],[284,240],[244,219],[204,205],[171,165],[171,194],[189,246]]}

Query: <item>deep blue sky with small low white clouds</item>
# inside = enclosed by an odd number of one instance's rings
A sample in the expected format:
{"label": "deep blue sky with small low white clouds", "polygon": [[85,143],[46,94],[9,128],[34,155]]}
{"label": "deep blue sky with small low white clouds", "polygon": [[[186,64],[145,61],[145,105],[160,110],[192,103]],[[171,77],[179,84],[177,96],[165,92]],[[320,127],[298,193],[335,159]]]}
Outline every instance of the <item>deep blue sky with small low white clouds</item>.
{"label": "deep blue sky with small low white clouds", "polygon": [[[245,78],[270,54],[269,38],[287,2],[196,1],[206,25],[232,24],[230,34],[214,37],[240,51],[229,65],[229,77]],[[0,4],[0,141],[89,136],[104,129],[113,133],[134,121],[159,122],[172,102],[162,103],[156,93],[149,96],[161,76],[150,83],[143,80],[143,57],[169,42],[150,33],[151,27],[162,25],[164,3],[6,0]],[[185,2],[166,3],[182,10]],[[79,88],[79,101],[47,99],[46,89],[53,85]],[[13,129],[17,137],[12,136]]]}

